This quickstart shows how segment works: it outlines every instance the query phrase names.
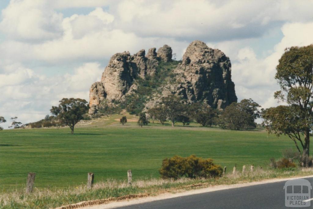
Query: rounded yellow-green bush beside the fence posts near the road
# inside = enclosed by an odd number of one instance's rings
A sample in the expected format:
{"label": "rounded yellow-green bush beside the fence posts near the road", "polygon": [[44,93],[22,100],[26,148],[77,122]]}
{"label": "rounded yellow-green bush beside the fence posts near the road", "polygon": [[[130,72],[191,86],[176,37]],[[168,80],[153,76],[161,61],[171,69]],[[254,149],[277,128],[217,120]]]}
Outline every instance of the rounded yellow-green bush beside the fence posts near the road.
{"label": "rounded yellow-green bush beside the fence posts near the road", "polygon": [[166,158],[163,160],[162,168],[160,169],[163,179],[179,179],[181,177],[211,178],[219,177],[222,173],[222,167],[215,165],[212,159],[203,159],[195,155],[190,155],[186,158],[177,155],[172,158]]}

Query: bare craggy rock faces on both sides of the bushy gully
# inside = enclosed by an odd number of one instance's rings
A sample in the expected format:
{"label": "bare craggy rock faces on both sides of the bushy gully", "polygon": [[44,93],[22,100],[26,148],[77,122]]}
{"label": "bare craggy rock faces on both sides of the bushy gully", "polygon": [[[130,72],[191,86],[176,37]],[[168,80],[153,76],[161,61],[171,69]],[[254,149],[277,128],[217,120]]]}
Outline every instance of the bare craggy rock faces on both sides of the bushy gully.
{"label": "bare craggy rock faces on both sides of the bushy gully", "polygon": [[[125,100],[125,96],[134,93],[139,78],[158,75],[161,63],[172,62],[172,49],[164,45],[156,52],[151,48],[146,54],[140,50],[134,55],[129,52],[113,55],[102,75],[101,82],[95,82],[90,88],[89,114],[98,111],[101,102],[113,104]],[[175,65],[176,66],[176,65]],[[187,99],[188,103],[203,101],[213,108],[225,108],[237,102],[234,83],[231,81],[231,63],[220,50],[211,49],[201,41],[189,44],[182,62],[172,72],[171,82],[162,83],[161,93],[149,95],[146,108],[156,104],[168,94],[176,94]],[[137,95],[141,97],[142,95]]]}

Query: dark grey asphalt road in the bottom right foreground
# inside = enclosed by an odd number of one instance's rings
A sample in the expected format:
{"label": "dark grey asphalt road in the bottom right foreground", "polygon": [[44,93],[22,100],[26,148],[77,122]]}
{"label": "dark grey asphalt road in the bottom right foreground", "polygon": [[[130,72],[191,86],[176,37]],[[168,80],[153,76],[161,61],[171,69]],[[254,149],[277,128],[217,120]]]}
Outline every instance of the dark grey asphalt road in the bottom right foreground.
{"label": "dark grey asphalt road in the bottom right foreground", "polygon": [[[306,178],[313,185],[313,178]],[[146,202],[137,205],[119,207],[123,209],[149,208],[149,209],[193,209],[193,208],[297,208],[285,207],[285,181],[246,186],[235,189],[207,192],[196,195],[175,197],[171,199]],[[311,190],[311,197],[313,197]],[[313,201],[310,201],[313,208]]]}

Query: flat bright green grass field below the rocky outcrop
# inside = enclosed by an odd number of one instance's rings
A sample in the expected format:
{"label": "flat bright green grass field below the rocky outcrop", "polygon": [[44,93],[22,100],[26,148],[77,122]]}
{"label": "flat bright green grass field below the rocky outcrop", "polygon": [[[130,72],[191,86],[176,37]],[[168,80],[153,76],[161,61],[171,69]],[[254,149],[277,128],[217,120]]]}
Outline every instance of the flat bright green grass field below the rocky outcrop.
{"label": "flat bright green grass field below the rocky outcrop", "polygon": [[159,123],[140,128],[135,122],[122,126],[113,119],[81,126],[74,134],[69,128],[1,131],[0,189],[25,186],[28,172],[36,172],[39,188],[85,184],[88,172],[95,173],[95,182],[126,179],[129,169],[135,180],[158,178],[162,159],[173,155],[212,158],[228,171],[235,163],[266,167],[271,157],[280,158],[282,150],[294,148],[287,137],[261,130],[198,124],[172,128]]}

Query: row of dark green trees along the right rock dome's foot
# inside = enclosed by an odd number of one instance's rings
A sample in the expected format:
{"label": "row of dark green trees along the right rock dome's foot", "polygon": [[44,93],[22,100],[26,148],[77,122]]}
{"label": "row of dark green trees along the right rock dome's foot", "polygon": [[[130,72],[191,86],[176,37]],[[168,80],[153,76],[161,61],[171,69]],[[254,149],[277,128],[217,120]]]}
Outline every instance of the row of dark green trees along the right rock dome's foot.
{"label": "row of dark green trees along the right rock dome's foot", "polygon": [[211,108],[203,102],[187,104],[187,102],[176,95],[162,98],[156,106],[148,109],[149,119],[160,122],[169,120],[172,127],[181,122],[188,125],[192,121],[203,127],[220,126],[231,130],[249,130],[256,128],[255,119],[261,116],[258,103],[252,99],[243,99],[241,102],[233,102],[224,110]]}

